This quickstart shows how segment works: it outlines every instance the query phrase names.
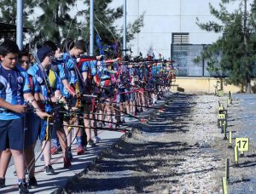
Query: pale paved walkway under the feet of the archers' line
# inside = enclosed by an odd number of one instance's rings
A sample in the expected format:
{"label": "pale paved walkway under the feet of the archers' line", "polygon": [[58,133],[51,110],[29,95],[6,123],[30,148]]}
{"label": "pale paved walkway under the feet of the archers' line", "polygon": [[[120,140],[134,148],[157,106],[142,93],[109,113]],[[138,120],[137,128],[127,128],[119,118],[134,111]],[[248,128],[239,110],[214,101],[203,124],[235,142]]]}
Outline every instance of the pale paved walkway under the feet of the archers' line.
{"label": "pale paved walkway under the feet of the archers' line", "polygon": [[[164,101],[160,101],[156,106],[162,106]],[[150,111],[143,112],[138,117],[147,117]],[[132,129],[133,127],[140,127],[140,123],[136,119],[125,118],[126,125],[121,128]],[[74,175],[83,172],[84,168],[87,168],[89,163],[93,162],[100,151],[113,145],[119,138],[124,134],[124,132],[115,131],[98,131],[98,136],[102,139],[96,147],[88,148],[84,155],[77,156],[76,145],[72,146],[73,151],[73,161],[71,168],[63,168],[63,158],[62,154],[56,154],[52,156],[51,163],[52,167],[55,169],[55,175],[44,174],[44,162],[38,159],[36,163],[36,179],[38,180],[38,188],[30,189],[30,193],[55,193],[58,189],[61,189],[67,185],[67,181],[71,179]],[[41,149],[36,153],[36,158],[41,152]],[[5,187],[0,189],[0,193],[19,193],[17,185],[17,177],[14,176],[15,166],[10,165],[6,175]]]}

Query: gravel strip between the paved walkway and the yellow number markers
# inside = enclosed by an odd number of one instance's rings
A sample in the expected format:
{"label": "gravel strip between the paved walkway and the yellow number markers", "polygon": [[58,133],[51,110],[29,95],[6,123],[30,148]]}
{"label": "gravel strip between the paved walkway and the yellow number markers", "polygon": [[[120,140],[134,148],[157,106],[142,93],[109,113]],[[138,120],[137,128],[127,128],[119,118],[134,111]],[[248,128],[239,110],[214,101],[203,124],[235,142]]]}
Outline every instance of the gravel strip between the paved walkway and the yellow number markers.
{"label": "gravel strip between the paved walkway and the yellow number markers", "polygon": [[225,159],[233,152],[217,128],[218,100],[224,99],[194,94],[166,98],[164,113],[151,116],[149,126],[103,152],[65,191],[222,192]]}

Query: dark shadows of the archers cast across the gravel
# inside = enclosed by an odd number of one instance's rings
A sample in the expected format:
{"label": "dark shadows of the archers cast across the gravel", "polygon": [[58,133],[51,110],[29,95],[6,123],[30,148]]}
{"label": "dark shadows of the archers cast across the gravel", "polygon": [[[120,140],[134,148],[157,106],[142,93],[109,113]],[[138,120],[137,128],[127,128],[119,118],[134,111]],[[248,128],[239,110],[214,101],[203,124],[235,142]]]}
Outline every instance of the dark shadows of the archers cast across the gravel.
{"label": "dark shadows of the archers cast across the gravel", "polygon": [[[172,126],[172,122],[181,123],[180,118],[191,111],[192,104],[189,106],[189,94],[176,94],[167,100],[165,112],[149,117],[149,126],[140,129],[140,133],[147,134],[147,137],[158,134],[187,133],[186,123],[178,127]],[[175,103],[178,101],[177,106]],[[175,107],[173,107],[176,105]],[[168,123],[166,121],[170,121]],[[132,138],[133,135],[130,135]],[[175,176],[184,174],[201,173],[186,172],[177,173],[172,171],[185,162],[183,158],[172,158],[173,155],[183,154],[184,151],[193,150],[195,147],[186,143],[170,140],[169,142],[157,142],[154,140],[141,141],[121,141],[113,146],[111,151],[103,152],[101,157],[96,160],[86,174],[80,174],[76,179],[69,182],[65,191],[71,192],[105,192],[113,190],[123,190],[125,192],[136,191],[145,192],[144,188],[148,185],[174,184],[178,180],[172,180]],[[169,157],[165,157],[169,156]],[[171,156],[171,157],[170,157]],[[161,174],[154,173],[157,169],[169,165],[170,172]],[[207,171],[213,169],[207,169]]]}

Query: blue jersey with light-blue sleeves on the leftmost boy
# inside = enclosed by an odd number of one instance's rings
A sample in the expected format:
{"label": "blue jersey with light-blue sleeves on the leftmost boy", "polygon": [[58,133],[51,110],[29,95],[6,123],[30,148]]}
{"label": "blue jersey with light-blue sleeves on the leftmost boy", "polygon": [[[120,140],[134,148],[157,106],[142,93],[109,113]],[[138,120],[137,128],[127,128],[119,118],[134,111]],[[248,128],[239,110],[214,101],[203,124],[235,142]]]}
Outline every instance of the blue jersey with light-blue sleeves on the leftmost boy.
{"label": "blue jersey with light-blue sleeves on the leftmost boy", "polygon": [[[0,64],[0,98],[12,105],[24,105],[23,94],[31,93],[29,79],[26,71],[19,66],[14,70],[6,70]],[[0,108],[0,120],[12,120],[24,117],[19,114]]]}

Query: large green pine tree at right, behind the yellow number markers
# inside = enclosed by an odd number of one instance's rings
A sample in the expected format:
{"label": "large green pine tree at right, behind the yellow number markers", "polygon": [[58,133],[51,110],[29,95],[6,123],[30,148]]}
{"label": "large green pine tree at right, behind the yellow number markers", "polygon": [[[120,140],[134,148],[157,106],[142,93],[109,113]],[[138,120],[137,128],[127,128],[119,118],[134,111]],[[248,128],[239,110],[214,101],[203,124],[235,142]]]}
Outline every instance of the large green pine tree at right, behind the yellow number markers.
{"label": "large green pine tree at right, behind the yellow number markers", "polygon": [[[237,1],[237,0],[233,0]],[[221,70],[228,76],[228,83],[234,83],[246,87],[246,92],[251,92],[251,80],[256,76],[255,59],[256,59],[256,38],[255,25],[253,16],[256,15],[255,1],[251,11],[247,11],[247,0],[239,0],[239,8],[233,13],[226,9],[231,0],[222,0],[220,9],[215,9],[210,4],[211,14],[219,21],[209,21],[207,23],[197,24],[206,31],[223,32],[224,36],[219,37],[216,43],[212,43],[201,57],[208,58],[208,66],[212,70]],[[221,54],[218,60],[216,55]]]}

